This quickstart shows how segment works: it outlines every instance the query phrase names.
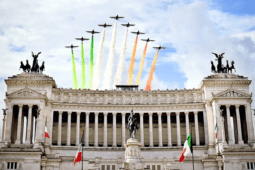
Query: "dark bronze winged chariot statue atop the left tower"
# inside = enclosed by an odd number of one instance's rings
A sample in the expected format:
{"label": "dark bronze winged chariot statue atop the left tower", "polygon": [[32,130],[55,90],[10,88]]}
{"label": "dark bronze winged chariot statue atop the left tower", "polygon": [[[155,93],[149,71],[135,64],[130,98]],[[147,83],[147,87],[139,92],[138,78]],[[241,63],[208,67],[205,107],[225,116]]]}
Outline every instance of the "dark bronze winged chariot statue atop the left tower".
{"label": "dark bronze winged chariot statue atop the left tower", "polygon": [[34,58],[32,67],[29,65],[27,60],[26,65],[24,65],[22,61],[20,62],[20,69],[22,69],[25,73],[29,73],[29,72],[42,73],[45,70],[45,67],[44,67],[44,61],[42,62],[41,66],[39,66],[38,64],[39,54],[41,54],[41,52],[39,52],[37,55],[34,55],[34,53],[32,52],[32,57]]}

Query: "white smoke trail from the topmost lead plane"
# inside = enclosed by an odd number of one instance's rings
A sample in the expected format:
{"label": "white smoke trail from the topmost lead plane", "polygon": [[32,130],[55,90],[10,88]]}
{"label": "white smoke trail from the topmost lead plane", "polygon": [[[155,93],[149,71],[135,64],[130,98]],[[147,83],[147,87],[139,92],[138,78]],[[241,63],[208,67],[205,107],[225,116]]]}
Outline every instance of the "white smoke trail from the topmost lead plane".
{"label": "white smoke trail from the topmost lead plane", "polygon": [[108,60],[106,64],[103,89],[109,89],[111,85],[112,68],[113,68],[114,51],[115,51],[114,49],[115,49],[115,41],[116,41],[116,30],[117,30],[117,21],[115,22],[113,33],[112,33],[112,41],[111,41],[110,51],[109,51]]}

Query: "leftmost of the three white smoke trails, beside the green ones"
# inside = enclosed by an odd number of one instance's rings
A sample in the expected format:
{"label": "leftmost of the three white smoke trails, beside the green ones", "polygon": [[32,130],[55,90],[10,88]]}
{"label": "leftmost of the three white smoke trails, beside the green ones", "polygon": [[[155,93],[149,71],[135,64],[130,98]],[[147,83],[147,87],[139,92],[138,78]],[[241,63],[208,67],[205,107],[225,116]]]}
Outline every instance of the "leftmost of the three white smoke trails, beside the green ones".
{"label": "leftmost of the three white smoke trails, beside the green ones", "polygon": [[102,37],[100,40],[98,53],[97,53],[97,60],[94,67],[94,78],[92,83],[92,89],[96,90],[98,88],[99,82],[100,82],[100,74],[101,74],[101,62],[102,62],[102,51],[103,51],[103,45],[104,45],[104,38],[105,38],[105,28],[102,33]]}

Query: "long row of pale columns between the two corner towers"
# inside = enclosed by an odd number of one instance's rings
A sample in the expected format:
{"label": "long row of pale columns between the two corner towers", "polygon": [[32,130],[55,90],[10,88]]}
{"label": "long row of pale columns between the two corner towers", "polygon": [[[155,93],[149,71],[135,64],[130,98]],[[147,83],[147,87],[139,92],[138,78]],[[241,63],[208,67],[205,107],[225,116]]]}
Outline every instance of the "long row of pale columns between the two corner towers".
{"label": "long row of pale columns between the two corner towers", "polygon": [[[58,111],[58,138],[57,138],[57,145],[61,146],[62,144],[62,115],[63,115],[64,111]],[[65,111],[66,112],[66,111]],[[199,146],[200,145],[200,138],[199,138],[199,122],[198,122],[198,111],[192,111],[194,113],[194,120],[195,120],[195,139],[196,139],[196,145]],[[203,114],[205,115],[204,111]],[[55,112],[56,113],[56,112]],[[70,141],[71,141],[71,136],[70,136],[70,131],[71,131],[71,114],[73,112],[72,111],[67,111],[67,142],[66,142],[66,146],[70,146]],[[84,112],[83,112],[84,113]],[[112,147],[116,147],[117,143],[116,143],[116,115],[117,113],[121,113],[121,144],[124,147],[124,144],[126,142],[126,112],[85,112],[86,115],[86,121],[85,123],[85,146],[89,146],[89,133],[90,133],[90,129],[89,129],[89,115],[90,113],[94,113],[94,147],[98,147],[98,115],[99,113],[103,113],[104,116],[104,122],[103,122],[103,147],[107,147],[108,146],[108,135],[107,135],[107,115],[108,113],[112,113],[112,131],[113,131],[113,135],[112,135],[112,143],[110,144]],[[177,122],[177,146],[181,146],[181,127],[180,127],[180,113],[181,112],[136,112],[139,113],[140,115],[140,122],[139,123],[139,131],[140,131],[140,142],[142,144],[142,146],[144,146],[144,113],[148,113],[149,115],[149,147],[153,147],[154,143],[153,143],[153,113],[157,113],[158,116],[158,146],[159,147],[163,147],[163,142],[162,142],[162,113],[166,113],[167,115],[167,135],[168,135],[168,146],[172,146],[172,135],[171,135],[171,114],[175,114],[176,115],[176,122]],[[186,120],[186,138],[188,137],[188,135],[190,134],[190,129],[189,129],[189,111],[185,111],[185,120]],[[54,112],[52,112],[52,114],[54,114]],[[79,135],[80,135],[80,115],[81,112],[76,112],[76,116],[77,116],[77,123],[76,123],[76,141],[75,144],[79,145]],[[205,116],[203,116],[205,117]],[[204,118],[204,128],[206,130],[204,130],[204,132],[207,131],[207,121]],[[52,122],[53,125],[53,122]],[[51,125],[51,126],[52,126]],[[51,129],[53,129],[51,127]],[[120,134],[118,134],[120,135]],[[206,135],[205,135],[206,136]],[[51,139],[51,143],[52,143],[52,139]]]}

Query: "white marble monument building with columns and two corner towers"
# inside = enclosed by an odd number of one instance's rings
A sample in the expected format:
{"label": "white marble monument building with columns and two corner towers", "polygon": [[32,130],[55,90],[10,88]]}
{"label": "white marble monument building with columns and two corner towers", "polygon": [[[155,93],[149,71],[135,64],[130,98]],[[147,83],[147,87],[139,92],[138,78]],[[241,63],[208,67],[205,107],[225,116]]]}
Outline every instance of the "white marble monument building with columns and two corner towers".
{"label": "white marble monument building with columns and two corner towers", "polygon": [[[21,73],[5,82],[0,168],[78,170],[81,163],[72,162],[82,136],[84,169],[124,168],[126,120],[133,109],[143,168],[191,170],[191,155],[183,163],[178,159],[192,133],[196,170],[255,169],[247,77],[217,73],[196,89],[152,91],[63,89],[41,73]],[[50,139],[43,136],[45,124]]]}

